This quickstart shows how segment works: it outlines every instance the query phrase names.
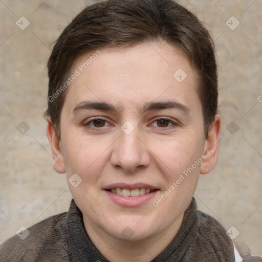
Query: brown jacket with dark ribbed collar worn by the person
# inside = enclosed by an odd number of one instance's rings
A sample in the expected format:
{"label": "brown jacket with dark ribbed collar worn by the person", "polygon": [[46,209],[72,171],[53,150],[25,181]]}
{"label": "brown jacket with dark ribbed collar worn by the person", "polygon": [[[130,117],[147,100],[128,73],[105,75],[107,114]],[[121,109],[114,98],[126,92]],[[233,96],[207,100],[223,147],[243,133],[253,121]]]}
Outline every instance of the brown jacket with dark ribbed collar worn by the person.
{"label": "brown jacket with dark ribbed collar worn by the person", "polygon": [[[30,234],[24,240],[15,235],[0,246],[1,262],[108,261],[85,233],[82,213],[74,200],[68,212],[51,216],[28,230]],[[234,262],[234,248],[222,225],[198,211],[192,199],[176,237],[152,261]]]}

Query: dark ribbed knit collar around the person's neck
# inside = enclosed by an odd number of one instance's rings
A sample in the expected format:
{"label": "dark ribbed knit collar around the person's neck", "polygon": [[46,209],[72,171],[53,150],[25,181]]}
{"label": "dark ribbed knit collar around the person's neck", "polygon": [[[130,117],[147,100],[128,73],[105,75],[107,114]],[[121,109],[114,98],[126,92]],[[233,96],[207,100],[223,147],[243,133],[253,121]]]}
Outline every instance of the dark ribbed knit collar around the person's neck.
{"label": "dark ribbed knit collar around the person's neck", "polygon": [[[152,261],[173,261],[176,257],[179,261],[185,254],[195,234],[198,233],[200,222],[197,216],[197,203],[192,199],[188,209],[185,211],[182,225],[172,242]],[[67,218],[67,230],[69,247],[72,260],[77,262],[106,262],[107,260],[91,242],[86,234],[83,224],[83,215],[72,200]]]}

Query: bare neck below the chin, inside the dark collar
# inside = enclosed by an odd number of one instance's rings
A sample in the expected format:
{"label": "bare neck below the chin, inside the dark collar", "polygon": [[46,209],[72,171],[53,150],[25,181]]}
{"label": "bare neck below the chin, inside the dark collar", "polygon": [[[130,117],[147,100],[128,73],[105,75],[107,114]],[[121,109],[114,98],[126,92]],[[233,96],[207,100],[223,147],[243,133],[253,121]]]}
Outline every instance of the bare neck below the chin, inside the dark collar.
{"label": "bare neck below the chin, inside the dark collar", "polygon": [[101,254],[112,262],[150,262],[158,256],[176,236],[183,220],[182,214],[164,231],[137,241],[115,238],[84,218],[86,232]]}

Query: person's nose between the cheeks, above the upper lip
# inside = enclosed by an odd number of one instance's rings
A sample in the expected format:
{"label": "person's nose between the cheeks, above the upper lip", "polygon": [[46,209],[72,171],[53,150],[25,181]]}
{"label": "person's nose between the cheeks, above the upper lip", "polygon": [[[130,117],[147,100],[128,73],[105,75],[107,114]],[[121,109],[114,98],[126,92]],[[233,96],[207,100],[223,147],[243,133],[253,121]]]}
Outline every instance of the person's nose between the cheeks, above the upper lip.
{"label": "person's nose between the cheeks, above the upper lip", "polygon": [[120,130],[120,136],[114,143],[111,155],[111,164],[115,168],[136,172],[149,166],[149,149],[136,129],[130,134]]}

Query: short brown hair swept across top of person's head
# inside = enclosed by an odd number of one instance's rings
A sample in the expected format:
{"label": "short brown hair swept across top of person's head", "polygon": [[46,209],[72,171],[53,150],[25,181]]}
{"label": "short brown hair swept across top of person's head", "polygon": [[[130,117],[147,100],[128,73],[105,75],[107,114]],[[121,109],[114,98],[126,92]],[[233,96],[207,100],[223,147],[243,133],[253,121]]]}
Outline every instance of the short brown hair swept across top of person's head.
{"label": "short brown hair swept across top of person's head", "polygon": [[[217,66],[213,41],[199,19],[172,0],[107,0],[83,9],[59,36],[48,60],[46,117],[60,136],[60,115],[74,61],[83,53],[111,46],[166,41],[187,55],[199,75],[205,135],[217,113]],[[61,89],[60,89],[61,91]],[[54,99],[55,98],[55,99]]]}

